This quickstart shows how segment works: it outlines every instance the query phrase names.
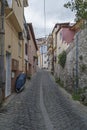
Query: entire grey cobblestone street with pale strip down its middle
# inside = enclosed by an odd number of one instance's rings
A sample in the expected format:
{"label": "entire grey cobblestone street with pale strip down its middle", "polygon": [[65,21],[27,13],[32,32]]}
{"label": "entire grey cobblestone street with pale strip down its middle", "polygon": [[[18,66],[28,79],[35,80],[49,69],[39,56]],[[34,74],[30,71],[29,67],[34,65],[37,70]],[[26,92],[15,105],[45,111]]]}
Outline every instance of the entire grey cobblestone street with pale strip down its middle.
{"label": "entire grey cobblestone street with pale strip down its middle", "polygon": [[40,71],[2,107],[0,130],[87,130],[87,108]]}

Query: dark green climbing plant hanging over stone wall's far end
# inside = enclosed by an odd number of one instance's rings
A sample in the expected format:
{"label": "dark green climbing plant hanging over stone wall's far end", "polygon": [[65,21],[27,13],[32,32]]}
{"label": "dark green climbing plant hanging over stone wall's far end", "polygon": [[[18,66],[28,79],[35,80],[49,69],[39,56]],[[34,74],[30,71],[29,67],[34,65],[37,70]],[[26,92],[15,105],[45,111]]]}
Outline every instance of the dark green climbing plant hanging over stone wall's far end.
{"label": "dark green climbing plant hanging over stone wall's far end", "polygon": [[65,67],[66,63],[66,51],[63,51],[58,55],[58,63],[62,66],[62,68]]}

